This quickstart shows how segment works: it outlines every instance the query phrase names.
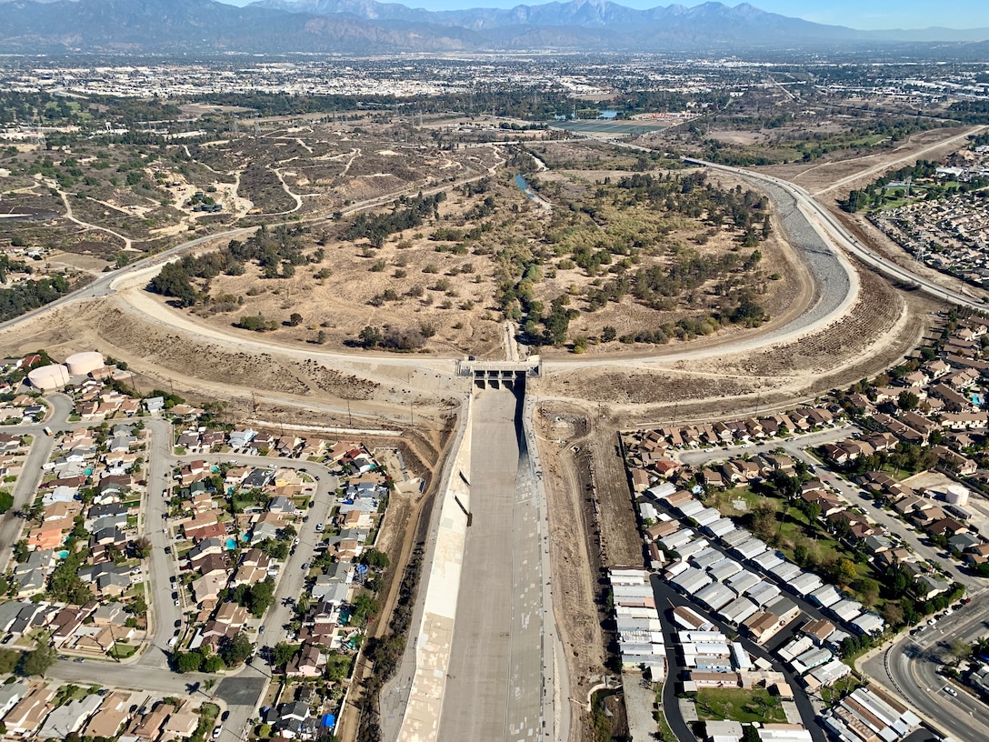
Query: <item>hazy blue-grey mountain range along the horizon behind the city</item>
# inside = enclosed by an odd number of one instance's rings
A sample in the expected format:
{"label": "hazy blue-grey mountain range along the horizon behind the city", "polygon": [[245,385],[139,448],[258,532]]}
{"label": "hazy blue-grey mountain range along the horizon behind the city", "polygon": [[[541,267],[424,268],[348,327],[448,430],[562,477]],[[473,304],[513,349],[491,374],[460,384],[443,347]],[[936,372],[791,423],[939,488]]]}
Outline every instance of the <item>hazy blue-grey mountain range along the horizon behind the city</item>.
{"label": "hazy blue-grey mountain range along the horizon behind the city", "polygon": [[3,53],[731,52],[989,39],[989,29],[855,31],[720,2],[427,11],[376,0],[259,0],[243,8],[215,0],[0,0],[0,17]]}

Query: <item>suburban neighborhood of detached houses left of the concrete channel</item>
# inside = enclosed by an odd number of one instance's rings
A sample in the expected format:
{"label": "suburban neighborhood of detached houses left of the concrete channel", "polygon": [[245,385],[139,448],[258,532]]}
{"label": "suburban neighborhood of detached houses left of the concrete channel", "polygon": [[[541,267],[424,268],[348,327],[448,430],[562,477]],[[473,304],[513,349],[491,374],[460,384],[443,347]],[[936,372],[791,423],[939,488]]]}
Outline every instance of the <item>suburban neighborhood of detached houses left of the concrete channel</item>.
{"label": "suburban neighborhood of detached houses left of the concrete channel", "polygon": [[[99,353],[5,362],[0,666],[20,675],[0,695],[6,734],[216,739],[231,707],[217,681],[259,655],[282,682],[245,720],[263,736],[331,732],[380,610],[395,480],[358,438],[219,423],[129,377]],[[99,669],[39,680],[80,663],[197,680],[164,695]]]}

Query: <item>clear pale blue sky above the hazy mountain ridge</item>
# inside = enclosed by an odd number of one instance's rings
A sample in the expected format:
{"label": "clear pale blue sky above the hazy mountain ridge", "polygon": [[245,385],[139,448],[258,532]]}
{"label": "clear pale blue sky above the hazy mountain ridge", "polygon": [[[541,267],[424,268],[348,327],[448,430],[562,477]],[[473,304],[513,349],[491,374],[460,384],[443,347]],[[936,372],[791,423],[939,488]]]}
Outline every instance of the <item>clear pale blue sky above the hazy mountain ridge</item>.
{"label": "clear pale blue sky above the hazy mountain ridge", "polygon": [[[246,5],[251,0],[222,0],[231,5]],[[388,1],[388,0],[383,0]],[[452,10],[455,8],[512,8],[516,5],[540,5],[541,0],[392,0],[411,8]],[[566,0],[561,0],[566,1]],[[630,8],[653,8],[671,5],[675,0],[612,0]],[[737,5],[737,0],[722,0]],[[949,29],[989,28],[987,0],[750,0],[761,10],[784,16],[803,18],[815,23],[848,26],[853,29],[926,29],[940,26]],[[692,7],[700,0],[679,0]]]}

